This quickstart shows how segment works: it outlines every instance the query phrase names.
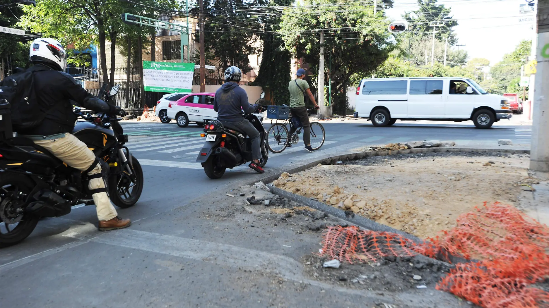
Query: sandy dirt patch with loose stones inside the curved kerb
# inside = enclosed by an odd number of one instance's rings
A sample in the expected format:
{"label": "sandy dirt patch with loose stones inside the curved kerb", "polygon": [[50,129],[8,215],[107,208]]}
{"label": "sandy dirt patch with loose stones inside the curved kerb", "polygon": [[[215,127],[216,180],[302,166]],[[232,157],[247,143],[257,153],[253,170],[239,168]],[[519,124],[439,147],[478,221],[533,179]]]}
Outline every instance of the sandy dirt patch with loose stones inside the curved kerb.
{"label": "sandy dirt patch with loose stones inside the curved kerb", "polygon": [[528,163],[506,153],[372,157],[284,173],[273,184],[425,238],[484,202],[514,205],[522,184],[536,181]]}

